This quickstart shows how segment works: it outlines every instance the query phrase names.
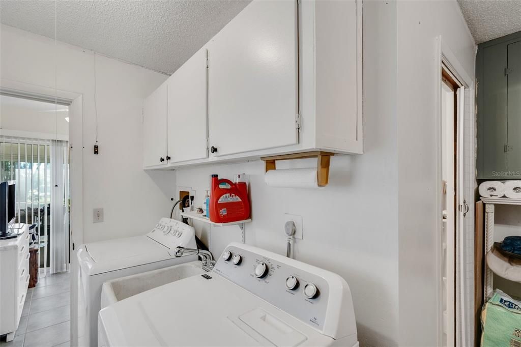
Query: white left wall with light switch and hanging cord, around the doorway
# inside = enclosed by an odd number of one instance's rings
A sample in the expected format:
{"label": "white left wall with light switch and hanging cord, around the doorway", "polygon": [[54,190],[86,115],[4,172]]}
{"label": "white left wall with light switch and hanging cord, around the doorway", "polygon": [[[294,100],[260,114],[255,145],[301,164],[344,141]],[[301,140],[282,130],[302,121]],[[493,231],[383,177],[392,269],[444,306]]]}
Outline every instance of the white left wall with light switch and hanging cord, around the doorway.
{"label": "white left wall with light switch and hanging cord, around the doorway", "polygon": [[[80,129],[69,133],[71,144],[81,147],[73,134],[82,128],[84,242],[143,234],[167,215],[175,173],[142,170],[141,125],[143,98],[167,76],[96,56],[96,156],[93,53],[60,42],[56,52],[53,40],[7,26],[1,27],[0,44],[3,80],[54,88],[57,56],[57,88],[83,95],[83,120],[71,121]],[[104,222],[92,223],[95,207],[104,208]]]}

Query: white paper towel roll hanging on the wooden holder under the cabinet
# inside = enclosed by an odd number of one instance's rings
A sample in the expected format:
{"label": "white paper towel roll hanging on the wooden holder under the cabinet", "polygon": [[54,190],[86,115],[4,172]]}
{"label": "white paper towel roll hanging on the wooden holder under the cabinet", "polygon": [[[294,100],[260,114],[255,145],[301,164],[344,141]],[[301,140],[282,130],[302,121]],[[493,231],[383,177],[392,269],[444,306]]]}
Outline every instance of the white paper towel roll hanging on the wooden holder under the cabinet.
{"label": "white paper towel roll hanging on the wooden holder under the cabinet", "polygon": [[264,175],[269,187],[279,188],[320,188],[317,182],[317,169],[277,169]]}

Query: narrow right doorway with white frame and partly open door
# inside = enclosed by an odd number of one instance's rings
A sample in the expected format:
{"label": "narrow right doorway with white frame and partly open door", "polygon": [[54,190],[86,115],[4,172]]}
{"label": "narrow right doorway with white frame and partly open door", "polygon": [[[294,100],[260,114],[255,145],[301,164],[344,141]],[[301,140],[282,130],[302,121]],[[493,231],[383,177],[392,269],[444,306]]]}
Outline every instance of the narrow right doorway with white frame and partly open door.
{"label": "narrow right doorway with white frame and partly open door", "polygon": [[437,38],[440,346],[474,345],[475,92],[471,79]]}

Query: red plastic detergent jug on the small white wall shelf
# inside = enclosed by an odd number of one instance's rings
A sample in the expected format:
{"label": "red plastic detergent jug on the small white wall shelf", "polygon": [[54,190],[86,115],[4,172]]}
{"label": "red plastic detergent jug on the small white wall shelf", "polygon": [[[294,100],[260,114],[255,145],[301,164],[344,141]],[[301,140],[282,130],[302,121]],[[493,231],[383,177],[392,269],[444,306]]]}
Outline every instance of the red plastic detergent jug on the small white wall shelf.
{"label": "red plastic detergent jug on the small white wall shelf", "polygon": [[228,223],[250,218],[250,202],[248,201],[246,182],[233,183],[227,179],[219,179],[217,175],[212,175],[210,191],[211,221]]}

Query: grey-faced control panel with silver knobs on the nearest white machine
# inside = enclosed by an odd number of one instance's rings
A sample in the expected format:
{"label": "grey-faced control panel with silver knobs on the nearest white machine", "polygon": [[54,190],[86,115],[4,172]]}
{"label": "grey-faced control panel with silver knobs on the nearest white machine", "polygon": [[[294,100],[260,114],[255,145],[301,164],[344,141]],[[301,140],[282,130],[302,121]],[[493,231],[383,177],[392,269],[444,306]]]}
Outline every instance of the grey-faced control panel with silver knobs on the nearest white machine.
{"label": "grey-faced control panel with silver knobs on the nearest white machine", "polygon": [[[332,272],[242,244],[226,247],[214,271],[319,330],[324,328],[328,305],[333,303],[331,286],[345,284],[349,292],[347,283]],[[352,305],[351,297],[349,300]],[[336,304],[341,301],[340,297]]]}

